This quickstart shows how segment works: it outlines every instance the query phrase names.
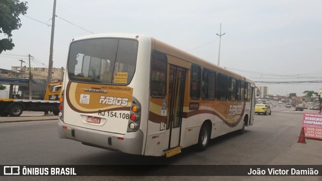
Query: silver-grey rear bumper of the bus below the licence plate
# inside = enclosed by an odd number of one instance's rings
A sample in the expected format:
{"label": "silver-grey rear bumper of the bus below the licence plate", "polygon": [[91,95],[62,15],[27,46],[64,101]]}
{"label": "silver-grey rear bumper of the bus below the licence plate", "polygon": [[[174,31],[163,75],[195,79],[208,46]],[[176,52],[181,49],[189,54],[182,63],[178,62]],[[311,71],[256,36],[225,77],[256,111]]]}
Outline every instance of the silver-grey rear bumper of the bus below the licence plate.
{"label": "silver-grey rear bumper of the bus below the licence plate", "polygon": [[123,135],[77,127],[58,120],[58,136],[80,141],[89,146],[142,155],[143,132],[141,130]]}

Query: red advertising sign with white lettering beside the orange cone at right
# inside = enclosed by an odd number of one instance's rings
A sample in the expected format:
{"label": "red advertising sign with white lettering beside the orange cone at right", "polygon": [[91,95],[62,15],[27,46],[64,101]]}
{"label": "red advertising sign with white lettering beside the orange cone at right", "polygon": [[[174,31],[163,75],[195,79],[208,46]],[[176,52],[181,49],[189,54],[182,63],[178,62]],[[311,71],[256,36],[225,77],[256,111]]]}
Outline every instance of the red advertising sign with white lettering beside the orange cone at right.
{"label": "red advertising sign with white lettering beside the orange cone at right", "polygon": [[302,127],[305,137],[322,139],[322,114],[304,113]]}

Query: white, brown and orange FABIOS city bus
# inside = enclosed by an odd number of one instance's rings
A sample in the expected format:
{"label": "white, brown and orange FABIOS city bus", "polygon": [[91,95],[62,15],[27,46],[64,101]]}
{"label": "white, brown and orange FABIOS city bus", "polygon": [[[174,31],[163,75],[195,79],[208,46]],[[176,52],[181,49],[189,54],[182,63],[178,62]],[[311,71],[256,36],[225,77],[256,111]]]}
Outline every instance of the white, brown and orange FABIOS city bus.
{"label": "white, brown and orange FABIOS city bus", "polygon": [[172,156],[253,125],[255,82],[136,34],[74,38],[60,99],[60,138]]}

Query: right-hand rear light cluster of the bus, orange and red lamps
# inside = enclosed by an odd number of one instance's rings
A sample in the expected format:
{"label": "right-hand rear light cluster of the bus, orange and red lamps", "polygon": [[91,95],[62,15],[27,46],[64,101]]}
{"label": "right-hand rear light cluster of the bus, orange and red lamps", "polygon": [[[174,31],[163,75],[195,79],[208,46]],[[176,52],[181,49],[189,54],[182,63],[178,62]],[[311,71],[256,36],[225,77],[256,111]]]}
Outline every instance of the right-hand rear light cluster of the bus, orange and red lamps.
{"label": "right-hand rear light cluster of the bus, orange and red lamps", "polygon": [[137,131],[140,127],[141,104],[133,97],[127,132]]}

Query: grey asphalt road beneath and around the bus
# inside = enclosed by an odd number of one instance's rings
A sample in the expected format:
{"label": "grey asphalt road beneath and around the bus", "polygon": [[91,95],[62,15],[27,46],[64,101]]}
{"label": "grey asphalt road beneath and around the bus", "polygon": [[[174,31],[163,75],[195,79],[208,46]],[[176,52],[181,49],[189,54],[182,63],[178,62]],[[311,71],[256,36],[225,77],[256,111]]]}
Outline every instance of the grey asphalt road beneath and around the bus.
{"label": "grey asphalt road beneath and around the bus", "polygon": [[[297,143],[302,126],[303,112],[274,104],[272,115],[256,115],[254,126],[247,127],[243,135],[230,133],[211,140],[207,150],[197,152],[185,148],[174,157],[151,157],[130,155],[82,145],[79,142],[59,139],[57,121],[29,121],[0,123],[0,155],[2,164],[9,165],[78,165],[78,164],[170,164],[170,165],[312,165],[321,164],[322,141],[306,139],[306,144]],[[272,105],[273,107],[273,105]],[[304,112],[316,112],[304,110]],[[6,180],[25,179],[6,176]],[[64,179],[66,177],[28,177],[36,180]],[[68,177],[82,180],[92,177]],[[107,178],[107,177],[105,177]],[[112,176],[109,180],[303,180],[305,177],[276,176]],[[0,178],[1,179],[1,178]],[[95,177],[95,180],[104,177]],[[306,179],[306,178],[305,178]],[[310,180],[322,180],[310,176]]]}

